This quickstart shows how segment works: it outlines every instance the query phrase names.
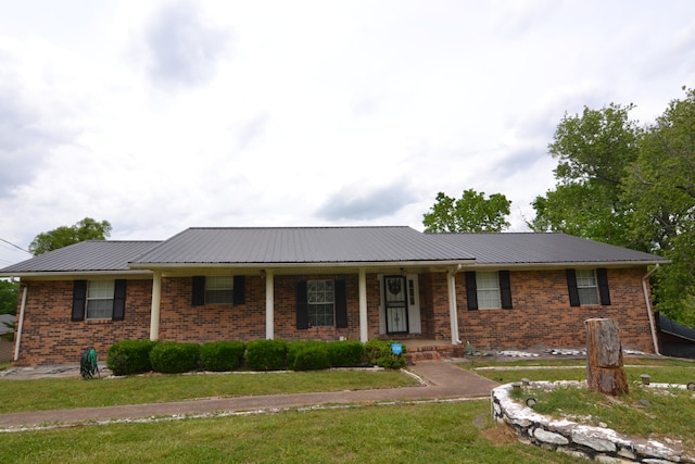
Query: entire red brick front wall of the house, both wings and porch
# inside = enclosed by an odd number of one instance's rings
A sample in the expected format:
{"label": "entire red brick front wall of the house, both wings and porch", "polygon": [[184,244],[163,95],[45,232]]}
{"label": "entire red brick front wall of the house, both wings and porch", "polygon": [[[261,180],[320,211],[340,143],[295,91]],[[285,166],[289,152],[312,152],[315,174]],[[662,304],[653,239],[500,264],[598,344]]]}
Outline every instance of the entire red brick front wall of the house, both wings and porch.
{"label": "entire red brick front wall of the house, both wings and porch", "polygon": [[[459,338],[480,350],[583,347],[584,321],[610,317],[621,329],[622,344],[653,352],[642,276],[646,269],[608,269],[611,305],[570,308],[565,271],[511,272],[511,310],[466,310],[463,274],[456,276]],[[348,328],[296,329],[294,285],[315,276],[275,277],[275,338],[285,340],[359,339],[356,274],[321,276],[344,279]],[[451,342],[446,274],[419,276],[422,338]],[[265,338],[265,280],[247,277],[245,304],[191,304],[190,277],[163,278],[160,339],[203,343]],[[152,283],[129,280],[125,321],[71,322],[73,281],[29,281],[21,356],[17,365],[76,364],[84,348],[94,346],[100,360],[124,339],[149,339]],[[379,281],[367,275],[369,339],[379,335]]]}

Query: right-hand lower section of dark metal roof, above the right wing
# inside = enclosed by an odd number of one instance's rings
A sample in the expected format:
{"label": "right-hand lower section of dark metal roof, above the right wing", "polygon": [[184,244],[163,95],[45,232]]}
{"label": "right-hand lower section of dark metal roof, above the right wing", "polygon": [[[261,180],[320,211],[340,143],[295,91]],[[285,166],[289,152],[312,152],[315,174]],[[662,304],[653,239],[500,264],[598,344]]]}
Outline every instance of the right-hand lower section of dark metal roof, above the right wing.
{"label": "right-hand lower section of dark metal roof, above the right wing", "polygon": [[429,234],[430,240],[466,250],[476,264],[667,263],[641,251],[566,234]]}

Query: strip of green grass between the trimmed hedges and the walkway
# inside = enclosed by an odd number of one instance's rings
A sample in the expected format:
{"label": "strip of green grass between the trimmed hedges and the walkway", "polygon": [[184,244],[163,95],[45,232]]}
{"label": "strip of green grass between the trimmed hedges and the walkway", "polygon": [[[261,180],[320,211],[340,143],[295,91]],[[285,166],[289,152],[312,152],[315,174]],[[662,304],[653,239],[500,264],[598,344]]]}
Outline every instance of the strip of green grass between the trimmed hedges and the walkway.
{"label": "strip of green grass between the trimmed hedges and the walkway", "polygon": [[0,380],[0,414],[181,401],[210,397],[366,390],[415,385],[400,371],[320,371],[268,374],[147,375],[83,380]]}

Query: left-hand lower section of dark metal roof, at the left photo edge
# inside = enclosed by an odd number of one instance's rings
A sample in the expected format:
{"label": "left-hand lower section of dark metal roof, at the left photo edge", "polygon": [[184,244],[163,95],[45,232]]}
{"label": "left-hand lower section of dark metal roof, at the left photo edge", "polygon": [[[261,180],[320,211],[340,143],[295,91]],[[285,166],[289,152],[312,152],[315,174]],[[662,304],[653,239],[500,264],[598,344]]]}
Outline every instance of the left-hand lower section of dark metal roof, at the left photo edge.
{"label": "left-hand lower section of dark metal roof, at the left photo edge", "polygon": [[130,271],[128,262],[160,241],[88,240],[0,269],[0,276],[40,273]]}

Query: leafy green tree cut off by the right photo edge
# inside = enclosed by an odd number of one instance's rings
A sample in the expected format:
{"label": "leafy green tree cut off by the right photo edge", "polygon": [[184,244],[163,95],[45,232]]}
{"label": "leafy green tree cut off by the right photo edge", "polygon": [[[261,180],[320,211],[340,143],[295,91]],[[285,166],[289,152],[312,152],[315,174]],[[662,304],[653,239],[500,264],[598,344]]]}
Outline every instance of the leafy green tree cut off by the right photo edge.
{"label": "leafy green tree cut off by the right photo edge", "polygon": [[655,276],[657,308],[695,327],[695,90],[683,90],[646,127],[621,199],[632,239],[672,262]]}

